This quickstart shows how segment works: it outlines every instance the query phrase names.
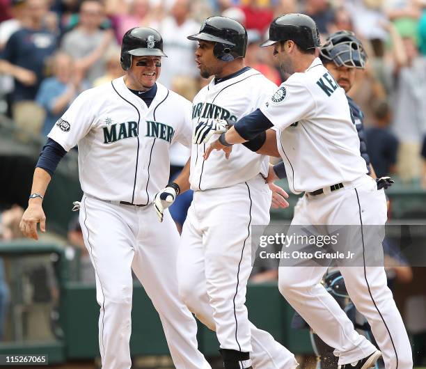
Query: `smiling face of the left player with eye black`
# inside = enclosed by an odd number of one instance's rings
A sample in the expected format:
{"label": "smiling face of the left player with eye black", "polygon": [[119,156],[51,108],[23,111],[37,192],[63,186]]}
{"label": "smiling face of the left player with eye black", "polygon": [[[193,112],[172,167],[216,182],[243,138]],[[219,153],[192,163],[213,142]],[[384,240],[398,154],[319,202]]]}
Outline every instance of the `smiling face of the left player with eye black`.
{"label": "smiling face of the left player with eye black", "polygon": [[161,72],[160,56],[133,56],[132,67],[127,71],[130,88],[143,91],[154,86]]}

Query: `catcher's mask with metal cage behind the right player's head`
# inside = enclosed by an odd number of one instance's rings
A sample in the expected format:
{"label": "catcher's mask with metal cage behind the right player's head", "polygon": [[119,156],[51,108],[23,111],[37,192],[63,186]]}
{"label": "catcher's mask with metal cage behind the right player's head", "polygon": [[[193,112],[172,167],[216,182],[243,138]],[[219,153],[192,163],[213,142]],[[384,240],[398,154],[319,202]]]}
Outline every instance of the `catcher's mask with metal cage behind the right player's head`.
{"label": "catcher's mask with metal cage behind the right player's head", "polygon": [[364,69],[367,62],[362,42],[351,31],[332,33],[319,49],[319,57],[323,63],[333,61],[338,67]]}

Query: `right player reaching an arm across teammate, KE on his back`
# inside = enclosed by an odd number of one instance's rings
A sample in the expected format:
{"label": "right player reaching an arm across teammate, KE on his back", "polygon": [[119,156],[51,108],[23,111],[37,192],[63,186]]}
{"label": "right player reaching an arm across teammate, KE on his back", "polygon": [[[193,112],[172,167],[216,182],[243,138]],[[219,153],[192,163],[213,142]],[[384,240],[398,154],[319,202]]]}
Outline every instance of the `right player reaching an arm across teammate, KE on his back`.
{"label": "right player reaching an arm across teammate, KE on his back", "polygon": [[[315,22],[301,14],[274,19],[269,40],[262,44],[271,45],[290,77],[260,109],[211,143],[205,159],[217,155],[212,150],[227,148],[229,152],[232,144],[275,127],[276,149],[285,163],[290,189],[294,194],[305,193],[292,226],[358,226],[363,265],[340,267],[340,272],[356,308],[372,327],[386,368],[412,368],[409,339],[386,285],[384,267],[365,265],[366,251],[381,250],[381,240],[365,244],[370,240],[364,238],[365,226],[384,226],[386,198],[366,174],[345,91],[315,57],[315,47],[320,45]],[[264,145],[269,141],[266,135]],[[292,243],[290,248],[296,246]],[[370,368],[381,352],[354,331],[352,322],[319,283],[327,267],[283,266],[279,289],[319,337],[336,347],[340,368]]]}

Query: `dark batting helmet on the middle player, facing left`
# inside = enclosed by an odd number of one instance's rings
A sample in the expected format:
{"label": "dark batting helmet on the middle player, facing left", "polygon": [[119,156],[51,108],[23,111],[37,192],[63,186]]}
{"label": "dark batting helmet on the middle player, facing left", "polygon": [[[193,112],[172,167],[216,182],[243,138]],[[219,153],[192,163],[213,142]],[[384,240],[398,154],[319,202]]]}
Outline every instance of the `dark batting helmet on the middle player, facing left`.
{"label": "dark batting helmet on the middle player, facing left", "polygon": [[213,54],[221,61],[246,56],[247,31],[234,19],[209,17],[201,25],[200,32],[188,36],[188,39],[214,42]]}

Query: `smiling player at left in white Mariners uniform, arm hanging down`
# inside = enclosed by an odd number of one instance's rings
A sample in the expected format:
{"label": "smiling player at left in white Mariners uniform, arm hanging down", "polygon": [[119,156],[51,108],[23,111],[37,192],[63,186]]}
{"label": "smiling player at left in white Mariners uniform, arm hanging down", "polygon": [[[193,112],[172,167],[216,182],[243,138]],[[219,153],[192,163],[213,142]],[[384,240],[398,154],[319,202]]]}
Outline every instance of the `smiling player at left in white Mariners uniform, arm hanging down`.
{"label": "smiling player at left in white Mariners uniform, arm hanging down", "polygon": [[45,231],[42,200],[54,169],[78,144],[79,214],[95,269],[103,369],[129,369],[132,270],[159,313],[176,368],[211,368],[197,350],[196,321],[178,296],[179,235],[152,200],[168,180],[168,150],[191,143],[191,103],[157,83],[163,40],[150,28],[123,37],[125,76],[81,93],[49,133],[34,172],[24,235]]}

